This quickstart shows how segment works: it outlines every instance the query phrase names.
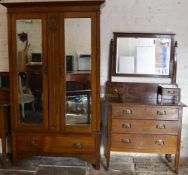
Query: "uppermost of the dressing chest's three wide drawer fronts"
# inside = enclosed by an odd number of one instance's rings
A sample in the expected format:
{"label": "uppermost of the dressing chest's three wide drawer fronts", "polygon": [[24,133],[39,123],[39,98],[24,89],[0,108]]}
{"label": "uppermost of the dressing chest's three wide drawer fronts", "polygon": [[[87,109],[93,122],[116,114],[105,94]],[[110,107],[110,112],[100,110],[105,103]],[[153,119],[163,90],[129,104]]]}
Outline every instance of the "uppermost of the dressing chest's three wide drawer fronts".
{"label": "uppermost of the dressing chest's three wide drawer fronts", "polygon": [[178,120],[178,108],[112,105],[112,117],[126,119]]}

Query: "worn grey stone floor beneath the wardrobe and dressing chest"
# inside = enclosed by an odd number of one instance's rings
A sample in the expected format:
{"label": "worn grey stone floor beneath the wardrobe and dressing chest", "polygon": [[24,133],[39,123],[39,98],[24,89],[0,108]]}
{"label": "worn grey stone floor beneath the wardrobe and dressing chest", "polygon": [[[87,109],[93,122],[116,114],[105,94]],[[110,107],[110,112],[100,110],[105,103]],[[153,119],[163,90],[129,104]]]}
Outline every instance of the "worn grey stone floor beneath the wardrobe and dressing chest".
{"label": "worn grey stone floor beneath the wardrobe and dressing chest", "polygon": [[[172,157],[174,160],[174,157]],[[105,168],[102,157],[101,169],[95,170],[87,162],[76,158],[32,157],[13,166],[7,161],[0,164],[0,175],[175,175],[174,161],[163,155],[112,153],[110,168]],[[188,175],[188,125],[183,125],[179,175]]]}

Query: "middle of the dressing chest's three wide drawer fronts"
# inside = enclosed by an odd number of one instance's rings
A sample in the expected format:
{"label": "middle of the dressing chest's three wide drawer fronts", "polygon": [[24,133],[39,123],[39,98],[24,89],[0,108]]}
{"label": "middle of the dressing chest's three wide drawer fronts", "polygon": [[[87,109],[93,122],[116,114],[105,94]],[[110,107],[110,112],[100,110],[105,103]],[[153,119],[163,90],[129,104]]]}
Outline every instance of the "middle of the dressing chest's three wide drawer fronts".
{"label": "middle of the dressing chest's three wide drawer fronts", "polygon": [[112,119],[112,132],[178,135],[178,121]]}

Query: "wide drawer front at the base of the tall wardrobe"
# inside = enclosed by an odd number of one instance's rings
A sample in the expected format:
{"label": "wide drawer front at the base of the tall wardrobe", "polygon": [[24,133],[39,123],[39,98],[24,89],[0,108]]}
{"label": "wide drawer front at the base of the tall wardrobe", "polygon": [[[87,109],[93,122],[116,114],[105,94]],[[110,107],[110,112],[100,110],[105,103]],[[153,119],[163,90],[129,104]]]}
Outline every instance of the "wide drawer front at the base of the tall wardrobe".
{"label": "wide drawer front at the base of the tall wardrobe", "polygon": [[19,135],[16,138],[18,152],[84,153],[94,152],[94,136],[40,136]]}

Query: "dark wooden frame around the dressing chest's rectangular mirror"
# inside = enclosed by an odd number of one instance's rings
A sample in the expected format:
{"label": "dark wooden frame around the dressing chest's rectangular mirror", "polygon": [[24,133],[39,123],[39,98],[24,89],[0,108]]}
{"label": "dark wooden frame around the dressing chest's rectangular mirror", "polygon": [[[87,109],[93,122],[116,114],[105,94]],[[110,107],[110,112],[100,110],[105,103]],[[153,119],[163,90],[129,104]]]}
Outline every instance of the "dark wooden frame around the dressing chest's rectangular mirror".
{"label": "dark wooden frame around the dressing chest's rectangular mirror", "polygon": [[[111,42],[111,76],[115,77],[155,77],[155,78],[172,78],[176,77],[176,59],[175,59],[175,41],[173,33],[119,33],[114,32],[114,38]],[[169,38],[171,40],[171,50],[170,50],[170,65],[169,65],[169,75],[159,75],[159,74],[131,74],[131,73],[117,73],[116,72],[116,54],[117,54],[117,39],[118,38]]]}

